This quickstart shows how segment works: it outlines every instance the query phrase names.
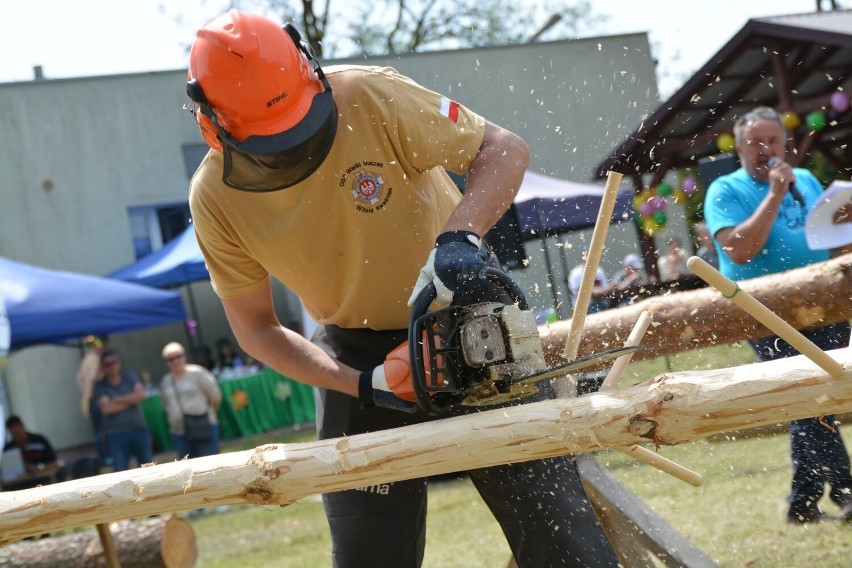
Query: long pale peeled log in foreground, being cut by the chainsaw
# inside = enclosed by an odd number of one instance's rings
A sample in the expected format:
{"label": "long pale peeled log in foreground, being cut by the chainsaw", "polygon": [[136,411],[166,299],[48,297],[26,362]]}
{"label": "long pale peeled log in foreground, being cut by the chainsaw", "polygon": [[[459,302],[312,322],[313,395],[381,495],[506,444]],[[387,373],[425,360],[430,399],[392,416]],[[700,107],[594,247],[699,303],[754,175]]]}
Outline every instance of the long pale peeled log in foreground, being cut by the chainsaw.
{"label": "long pale peeled log in foreground, being cut by the chainsaw", "polygon": [[718,432],[852,411],[852,349],[832,379],[803,356],[667,373],[577,398],[426,424],[153,465],[0,493],[0,545],[32,534],[213,505],[289,505],[316,493],[474,468],[673,445]]}

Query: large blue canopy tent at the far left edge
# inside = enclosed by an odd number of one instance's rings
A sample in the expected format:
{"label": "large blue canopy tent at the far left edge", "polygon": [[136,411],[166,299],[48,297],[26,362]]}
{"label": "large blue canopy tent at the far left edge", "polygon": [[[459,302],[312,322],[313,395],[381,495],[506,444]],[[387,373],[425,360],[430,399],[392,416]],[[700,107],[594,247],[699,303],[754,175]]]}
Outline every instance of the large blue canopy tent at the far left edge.
{"label": "large blue canopy tent at the far left edge", "polygon": [[183,321],[177,292],[39,268],[0,257],[11,350]]}

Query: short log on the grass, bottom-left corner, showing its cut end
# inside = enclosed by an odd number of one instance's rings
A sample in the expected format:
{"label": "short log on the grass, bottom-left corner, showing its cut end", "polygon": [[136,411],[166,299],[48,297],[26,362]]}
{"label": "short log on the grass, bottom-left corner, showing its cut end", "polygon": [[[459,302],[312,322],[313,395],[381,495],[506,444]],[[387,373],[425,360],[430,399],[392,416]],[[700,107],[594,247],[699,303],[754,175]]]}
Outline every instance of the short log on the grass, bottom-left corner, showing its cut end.
{"label": "short log on the grass, bottom-left corner, showing its cut end", "polygon": [[[122,568],[191,568],[198,559],[192,525],[177,516],[121,521],[109,527]],[[109,565],[98,533],[73,532],[0,548],[4,568],[97,568]]]}

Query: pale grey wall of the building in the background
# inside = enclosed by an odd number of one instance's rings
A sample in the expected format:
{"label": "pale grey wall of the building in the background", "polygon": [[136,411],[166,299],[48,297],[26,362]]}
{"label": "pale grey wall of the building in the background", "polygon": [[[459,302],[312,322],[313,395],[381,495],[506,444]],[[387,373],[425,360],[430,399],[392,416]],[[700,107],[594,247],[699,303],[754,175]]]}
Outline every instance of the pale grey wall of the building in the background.
{"label": "pale grey wall of the building in the background", "polygon": [[[392,65],[523,136],[532,171],[576,181],[589,181],[594,165],[658,104],[645,34],[338,62]],[[175,70],[0,84],[0,255],[93,275],[133,262],[129,209],[187,200],[184,147],[201,137],[183,109],[185,81],[186,71]],[[636,249],[636,236],[632,223],[610,234],[604,267],[611,274]],[[570,269],[578,247],[554,243],[551,256],[567,252]],[[546,307],[540,248],[528,243],[530,266],[513,276],[535,306]],[[560,277],[560,267],[554,270]],[[201,322],[205,343],[232,337],[209,283],[191,286],[198,314],[190,317]],[[297,299],[275,290],[279,317],[297,321]],[[181,292],[189,312],[188,287]],[[162,346],[188,337],[176,323],[110,339],[126,368],[157,381],[165,372]],[[79,357],[75,348],[34,347],[11,357],[3,372],[7,410],[59,448],[92,440],[74,384]]]}

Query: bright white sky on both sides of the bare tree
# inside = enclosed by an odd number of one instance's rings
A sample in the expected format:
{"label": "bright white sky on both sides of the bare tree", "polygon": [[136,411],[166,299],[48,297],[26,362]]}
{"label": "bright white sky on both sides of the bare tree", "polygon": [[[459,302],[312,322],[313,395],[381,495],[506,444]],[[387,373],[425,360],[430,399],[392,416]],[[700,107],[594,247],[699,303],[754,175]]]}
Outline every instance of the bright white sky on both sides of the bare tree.
{"label": "bright white sky on both sides of the bare tree", "polygon": [[[195,30],[224,4],[0,0],[6,22],[0,83],[29,81],[36,66],[54,79],[185,69]],[[605,0],[593,6],[609,18],[593,35],[648,32],[659,89],[668,97],[750,18],[813,12],[816,0]]]}

